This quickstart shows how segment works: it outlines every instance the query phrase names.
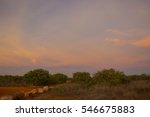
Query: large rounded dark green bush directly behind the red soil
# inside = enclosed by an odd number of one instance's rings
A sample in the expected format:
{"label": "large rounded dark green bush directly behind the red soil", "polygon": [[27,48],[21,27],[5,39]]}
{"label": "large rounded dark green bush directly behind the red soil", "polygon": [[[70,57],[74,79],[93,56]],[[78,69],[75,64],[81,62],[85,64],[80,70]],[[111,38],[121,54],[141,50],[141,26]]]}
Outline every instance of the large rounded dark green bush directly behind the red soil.
{"label": "large rounded dark green bush directly behind the red soil", "polygon": [[25,81],[28,84],[41,86],[51,83],[49,72],[44,69],[35,69],[24,75]]}

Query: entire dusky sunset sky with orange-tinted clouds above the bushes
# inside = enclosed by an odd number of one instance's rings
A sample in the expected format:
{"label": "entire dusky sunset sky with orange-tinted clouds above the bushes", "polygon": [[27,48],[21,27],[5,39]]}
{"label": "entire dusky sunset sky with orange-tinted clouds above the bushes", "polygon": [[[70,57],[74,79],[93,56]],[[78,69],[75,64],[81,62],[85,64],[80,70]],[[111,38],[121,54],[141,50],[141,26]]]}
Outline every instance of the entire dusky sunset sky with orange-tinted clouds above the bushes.
{"label": "entire dusky sunset sky with orange-tinted clouds above the bushes", "polygon": [[149,12],[149,0],[0,0],[0,74],[150,74]]}

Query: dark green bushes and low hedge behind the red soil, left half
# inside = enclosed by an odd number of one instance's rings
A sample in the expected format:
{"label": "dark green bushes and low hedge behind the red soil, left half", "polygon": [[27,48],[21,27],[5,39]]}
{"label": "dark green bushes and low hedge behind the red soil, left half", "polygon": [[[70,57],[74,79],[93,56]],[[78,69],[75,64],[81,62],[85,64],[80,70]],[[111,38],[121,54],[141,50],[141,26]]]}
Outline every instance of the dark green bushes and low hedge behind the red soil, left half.
{"label": "dark green bushes and low hedge behind the red soil, left half", "polygon": [[0,76],[0,86],[44,86],[65,83],[68,76],[62,73],[49,74],[47,70],[35,69],[24,76]]}

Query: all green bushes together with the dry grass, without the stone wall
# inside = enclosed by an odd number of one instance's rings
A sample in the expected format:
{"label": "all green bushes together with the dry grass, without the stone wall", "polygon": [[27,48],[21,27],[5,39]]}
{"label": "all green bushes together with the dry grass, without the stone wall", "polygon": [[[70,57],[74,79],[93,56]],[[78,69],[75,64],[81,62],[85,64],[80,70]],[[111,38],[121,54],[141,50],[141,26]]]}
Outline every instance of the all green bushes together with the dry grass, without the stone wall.
{"label": "all green bushes together with the dry grass, without the stone wall", "polygon": [[[68,82],[67,82],[68,81]],[[97,71],[93,76],[88,72],[73,73],[72,78],[62,73],[50,74],[44,69],[35,69],[23,76],[0,76],[0,92],[19,86],[53,85],[48,92],[29,99],[150,99],[150,75],[125,75],[115,69]],[[5,89],[5,90],[4,90]],[[22,99],[22,94],[14,94],[14,99]]]}

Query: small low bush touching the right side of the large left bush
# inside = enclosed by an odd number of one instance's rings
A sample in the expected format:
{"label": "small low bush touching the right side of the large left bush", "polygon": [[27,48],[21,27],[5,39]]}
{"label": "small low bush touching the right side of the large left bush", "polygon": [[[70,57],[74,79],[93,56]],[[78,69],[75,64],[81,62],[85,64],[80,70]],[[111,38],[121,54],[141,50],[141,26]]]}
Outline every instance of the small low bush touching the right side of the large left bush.
{"label": "small low bush touching the right side of the large left bush", "polygon": [[57,73],[52,75],[55,84],[65,83],[68,79],[68,76],[62,73]]}

